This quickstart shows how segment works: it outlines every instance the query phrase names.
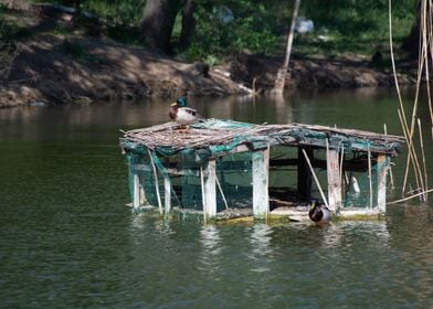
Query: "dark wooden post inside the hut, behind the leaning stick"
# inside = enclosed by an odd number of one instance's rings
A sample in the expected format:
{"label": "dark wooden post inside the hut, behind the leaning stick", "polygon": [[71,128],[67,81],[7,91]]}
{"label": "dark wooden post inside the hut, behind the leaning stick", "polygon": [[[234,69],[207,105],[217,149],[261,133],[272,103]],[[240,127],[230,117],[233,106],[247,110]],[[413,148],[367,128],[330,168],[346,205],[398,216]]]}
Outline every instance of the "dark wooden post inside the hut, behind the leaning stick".
{"label": "dark wooden post inside the hut, behind the leaning stick", "polygon": [[303,149],[308,158],[313,158],[314,156],[313,148],[298,148],[297,193],[299,201],[309,202],[311,200],[313,177],[307,160],[303,154]]}

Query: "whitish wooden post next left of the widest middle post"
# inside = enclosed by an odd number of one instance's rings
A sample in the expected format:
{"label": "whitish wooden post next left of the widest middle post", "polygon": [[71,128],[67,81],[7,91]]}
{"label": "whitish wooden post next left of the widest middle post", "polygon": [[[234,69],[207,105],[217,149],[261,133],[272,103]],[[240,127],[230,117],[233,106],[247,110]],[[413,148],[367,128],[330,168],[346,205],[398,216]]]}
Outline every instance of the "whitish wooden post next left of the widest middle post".
{"label": "whitish wooden post next left of the widest middle post", "polygon": [[203,215],[213,217],[216,215],[216,162],[214,158],[210,158],[204,168],[204,185],[203,185]]}

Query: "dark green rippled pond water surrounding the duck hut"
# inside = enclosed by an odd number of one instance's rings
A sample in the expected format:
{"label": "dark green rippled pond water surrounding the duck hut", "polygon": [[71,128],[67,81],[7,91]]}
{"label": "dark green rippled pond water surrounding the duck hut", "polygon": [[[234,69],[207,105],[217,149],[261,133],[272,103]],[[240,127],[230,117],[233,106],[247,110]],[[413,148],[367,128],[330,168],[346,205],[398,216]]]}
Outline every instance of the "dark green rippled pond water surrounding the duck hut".
{"label": "dark green rippled pond water surrounding the duck hut", "polygon": [[[191,105],[205,117],[374,131],[387,122],[400,134],[392,92]],[[118,129],[163,122],[166,109],[155,100],[0,110],[0,308],[433,307],[432,204],[321,227],[133,214]],[[397,163],[401,182],[404,156]]]}

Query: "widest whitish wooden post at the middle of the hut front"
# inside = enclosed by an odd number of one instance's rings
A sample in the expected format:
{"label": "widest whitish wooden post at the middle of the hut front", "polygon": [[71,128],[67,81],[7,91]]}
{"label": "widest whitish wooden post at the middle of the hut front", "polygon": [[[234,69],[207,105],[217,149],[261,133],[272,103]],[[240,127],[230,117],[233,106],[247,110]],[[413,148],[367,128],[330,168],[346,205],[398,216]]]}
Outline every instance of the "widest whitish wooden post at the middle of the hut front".
{"label": "widest whitish wooden post at the middle of the hut front", "polygon": [[253,214],[263,219],[270,213],[270,148],[252,153],[253,170]]}

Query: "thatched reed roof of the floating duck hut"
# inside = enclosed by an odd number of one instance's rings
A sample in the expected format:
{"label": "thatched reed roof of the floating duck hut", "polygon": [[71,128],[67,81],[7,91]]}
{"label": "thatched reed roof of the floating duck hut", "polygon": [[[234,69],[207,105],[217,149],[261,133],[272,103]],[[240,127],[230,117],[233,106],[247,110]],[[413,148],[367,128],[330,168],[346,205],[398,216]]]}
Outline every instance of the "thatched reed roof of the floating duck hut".
{"label": "thatched reed roof of the floating duck hut", "polygon": [[208,119],[191,125],[187,132],[179,131],[179,128],[176,122],[167,122],[126,131],[120,146],[130,150],[145,147],[165,156],[183,150],[222,156],[267,146],[326,148],[328,140],[331,149],[344,147],[345,151],[371,151],[394,157],[404,141],[400,136],[303,124],[254,125]]}

